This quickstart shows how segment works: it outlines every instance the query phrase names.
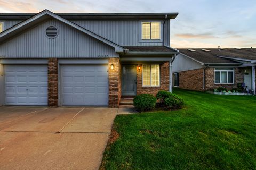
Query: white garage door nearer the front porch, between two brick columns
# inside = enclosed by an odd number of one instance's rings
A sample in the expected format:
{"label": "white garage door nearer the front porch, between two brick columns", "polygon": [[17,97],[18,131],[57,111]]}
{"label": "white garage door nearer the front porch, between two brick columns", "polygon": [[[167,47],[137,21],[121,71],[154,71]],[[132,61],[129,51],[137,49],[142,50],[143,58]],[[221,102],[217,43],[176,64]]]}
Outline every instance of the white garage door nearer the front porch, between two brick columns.
{"label": "white garage door nearer the front porch, between two brick columns", "polygon": [[63,106],[107,106],[107,64],[62,65]]}

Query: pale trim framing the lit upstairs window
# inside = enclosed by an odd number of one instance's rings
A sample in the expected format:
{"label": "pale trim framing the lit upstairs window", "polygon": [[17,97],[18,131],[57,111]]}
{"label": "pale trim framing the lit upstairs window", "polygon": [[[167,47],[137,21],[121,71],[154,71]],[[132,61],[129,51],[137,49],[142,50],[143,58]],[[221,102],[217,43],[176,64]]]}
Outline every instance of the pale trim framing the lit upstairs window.
{"label": "pale trim framing the lit upstairs window", "polygon": [[[160,22],[160,39],[142,39],[142,22]],[[139,21],[139,43],[163,43],[163,21],[162,20],[140,20]]]}

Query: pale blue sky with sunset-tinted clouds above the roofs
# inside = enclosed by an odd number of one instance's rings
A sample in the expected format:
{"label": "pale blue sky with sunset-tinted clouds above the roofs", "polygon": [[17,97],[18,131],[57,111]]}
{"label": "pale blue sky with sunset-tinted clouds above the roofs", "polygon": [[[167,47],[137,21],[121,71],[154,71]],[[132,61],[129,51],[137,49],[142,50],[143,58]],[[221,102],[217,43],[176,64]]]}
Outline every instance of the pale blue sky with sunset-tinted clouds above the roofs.
{"label": "pale blue sky with sunset-tinted clouds above the roofs", "polygon": [[255,0],[0,0],[0,13],[178,12],[171,47],[256,47]]}

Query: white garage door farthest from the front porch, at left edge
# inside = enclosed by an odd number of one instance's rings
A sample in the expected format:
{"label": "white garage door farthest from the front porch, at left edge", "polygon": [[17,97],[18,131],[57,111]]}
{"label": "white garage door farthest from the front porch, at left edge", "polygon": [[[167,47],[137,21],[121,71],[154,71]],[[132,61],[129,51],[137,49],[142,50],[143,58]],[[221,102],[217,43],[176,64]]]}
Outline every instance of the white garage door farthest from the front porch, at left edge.
{"label": "white garage door farthest from the front porch, at left edge", "polygon": [[47,105],[47,65],[4,65],[5,105]]}

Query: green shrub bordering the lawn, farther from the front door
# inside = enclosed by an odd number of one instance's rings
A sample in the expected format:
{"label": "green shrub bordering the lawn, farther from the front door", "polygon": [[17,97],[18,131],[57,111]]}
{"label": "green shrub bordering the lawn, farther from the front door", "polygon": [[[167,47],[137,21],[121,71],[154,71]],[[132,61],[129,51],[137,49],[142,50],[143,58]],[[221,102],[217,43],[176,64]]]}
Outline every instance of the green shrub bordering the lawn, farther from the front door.
{"label": "green shrub bordering the lawn, farther from the front door", "polygon": [[159,91],[156,98],[160,101],[159,106],[166,109],[181,108],[184,105],[184,100],[182,98],[168,91]]}

